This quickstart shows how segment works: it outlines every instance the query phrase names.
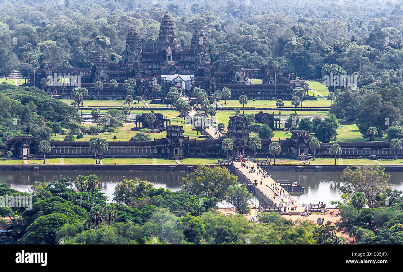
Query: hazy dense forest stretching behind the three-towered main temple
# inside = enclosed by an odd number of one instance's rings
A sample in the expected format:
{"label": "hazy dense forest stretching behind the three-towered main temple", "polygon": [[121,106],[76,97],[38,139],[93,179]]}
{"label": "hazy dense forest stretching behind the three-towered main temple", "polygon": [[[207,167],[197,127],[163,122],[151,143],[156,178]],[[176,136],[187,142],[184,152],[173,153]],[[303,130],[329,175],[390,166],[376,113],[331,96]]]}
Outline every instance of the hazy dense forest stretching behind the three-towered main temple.
{"label": "hazy dense forest stretching behind the three-towered main temple", "polygon": [[[403,1],[3,1],[0,73],[30,71],[27,46],[39,62],[89,65],[91,51],[118,62],[134,26],[151,47],[164,12],[188,49],[195,29],[218,52],[248,68],[278,61],[303,78],[322,78],[324,64],[376,78],[402,66]],[[34,66],[37,66],[35,64]],[[368,84],[374,80],[362,80]]]}

